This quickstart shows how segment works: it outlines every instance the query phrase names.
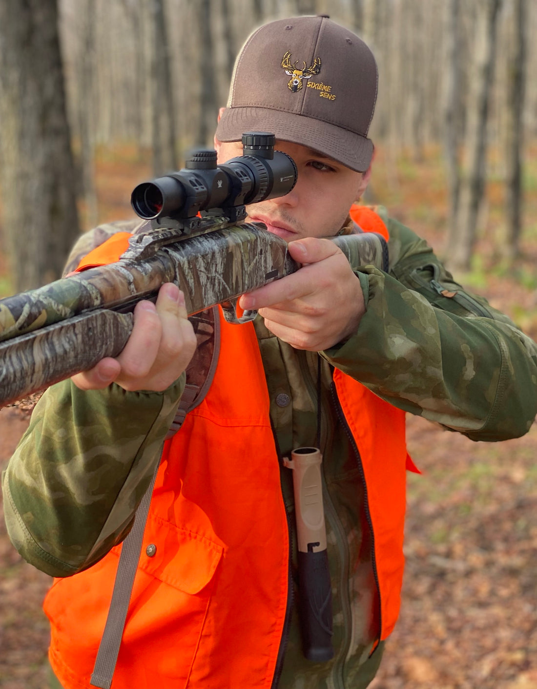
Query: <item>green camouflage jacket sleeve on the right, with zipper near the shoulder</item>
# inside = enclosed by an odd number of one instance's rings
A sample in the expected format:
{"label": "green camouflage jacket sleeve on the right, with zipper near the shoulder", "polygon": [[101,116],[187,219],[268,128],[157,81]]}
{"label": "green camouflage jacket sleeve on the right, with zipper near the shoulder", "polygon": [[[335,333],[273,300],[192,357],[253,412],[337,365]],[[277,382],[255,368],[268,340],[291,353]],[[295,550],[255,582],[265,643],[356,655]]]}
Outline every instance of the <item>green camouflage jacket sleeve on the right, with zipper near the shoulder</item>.
{"label": "green camouflage jacket sleeve on the right, with zipper near the shoulder", "polygon": [[404,411],[472,440],[506,440],[537,413],[537,345],[454,282],[432,249],[390,220],[390,272],[358,277],[366,313],[323,356]]}

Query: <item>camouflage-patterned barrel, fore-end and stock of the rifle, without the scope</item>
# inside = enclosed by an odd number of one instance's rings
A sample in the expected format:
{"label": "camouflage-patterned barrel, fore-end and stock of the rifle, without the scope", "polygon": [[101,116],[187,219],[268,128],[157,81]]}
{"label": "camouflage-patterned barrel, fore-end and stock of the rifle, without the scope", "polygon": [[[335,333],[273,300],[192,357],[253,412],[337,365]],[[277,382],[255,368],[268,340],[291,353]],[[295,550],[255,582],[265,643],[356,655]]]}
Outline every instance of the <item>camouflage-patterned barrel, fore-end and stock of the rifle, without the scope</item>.
{"label": "camouflage-patterned barrel, fore-end and stock of the rifle, without the scope", "polygon": [[[220,225],[225,224],[222,219]],[[153,232],[133,239],[139,245]],[[379,235],[332,240],[353,268],[385,267],[386,244]],[[191,315],[227,305],[299,267],[285,241],[266,232],[262,223],[224,226],[153,252],[149,247],[143,247],[143,258],[136,256],[134,244],[118,263],[0,300],[0,407],[89,369],[105,356],[117,356],[131,333],[130,311],[139,300],[154,298],[164,282],[182,289]],[[224,313],[233,321],[233,306]],[[246,319],[253,315],[245,314]]]}

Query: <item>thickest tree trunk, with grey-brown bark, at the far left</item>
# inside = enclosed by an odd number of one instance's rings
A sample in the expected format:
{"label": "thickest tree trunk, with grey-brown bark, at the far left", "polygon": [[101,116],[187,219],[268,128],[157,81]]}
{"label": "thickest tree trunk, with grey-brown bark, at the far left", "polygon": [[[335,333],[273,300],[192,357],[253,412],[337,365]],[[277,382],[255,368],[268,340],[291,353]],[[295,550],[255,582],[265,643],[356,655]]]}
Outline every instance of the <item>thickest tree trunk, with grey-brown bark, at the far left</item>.
{"label": "thickest tree trunk, with grey-brown bark, at the far left", "polygon": [[0,184],[17,291],[61,276],[78,235],[56,0],[0,3]]}

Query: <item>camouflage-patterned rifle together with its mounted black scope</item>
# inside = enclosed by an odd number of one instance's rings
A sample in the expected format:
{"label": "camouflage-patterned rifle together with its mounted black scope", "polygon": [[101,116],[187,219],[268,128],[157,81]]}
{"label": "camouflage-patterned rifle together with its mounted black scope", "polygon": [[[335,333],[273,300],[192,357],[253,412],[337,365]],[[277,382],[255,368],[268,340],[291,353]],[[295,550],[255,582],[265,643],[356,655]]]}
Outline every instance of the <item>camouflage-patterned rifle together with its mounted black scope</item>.
{"label": "camouflage-patterned rifle together with its mounted black scope", "polygon": [[[282,238],[244,222],[244,206],[288,194],[297,169],[273,134],[250,132],[242,143],[225,165],[200,150],[180,171],[138,185],[131,204],[147,223],[117,263],[0,300],[0,407],[118,356],[136,303],[155,300],[164,282],[182,289],[189,315],[221,304],[230,322],[255,318],[237,316],[238,298],[300,266]],[[354,269],[388,269],[380,235],[331,239]]]}

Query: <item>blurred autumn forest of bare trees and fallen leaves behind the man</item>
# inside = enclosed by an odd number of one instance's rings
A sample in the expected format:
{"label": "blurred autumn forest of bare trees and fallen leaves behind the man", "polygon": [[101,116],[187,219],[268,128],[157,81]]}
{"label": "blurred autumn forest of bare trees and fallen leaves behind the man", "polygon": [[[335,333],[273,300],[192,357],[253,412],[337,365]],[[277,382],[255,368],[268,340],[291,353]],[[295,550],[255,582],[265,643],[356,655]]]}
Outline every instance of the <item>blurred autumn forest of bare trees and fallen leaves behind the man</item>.
{"label": "blurred autumn forest of bare trees and fallen leaves behind the man", "polygon": [[[379,65],[366,203],[537,337],[533,0],[0,0],[0,297],[61,274],[80,232],[211,145],[256,25],[330,14]],[[252,75],[262,79],[262,74]],[[0,411],[0,469],[28,425]],[[472,443],[408,422],[401,620],[373,689],[537,689],[536,427]],[[46,686],[50,579],[0,525],[0,687]]]}

